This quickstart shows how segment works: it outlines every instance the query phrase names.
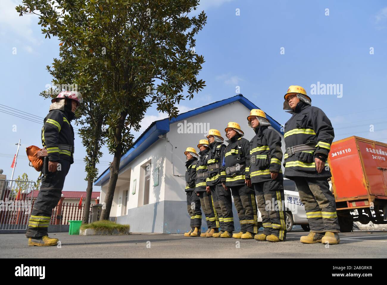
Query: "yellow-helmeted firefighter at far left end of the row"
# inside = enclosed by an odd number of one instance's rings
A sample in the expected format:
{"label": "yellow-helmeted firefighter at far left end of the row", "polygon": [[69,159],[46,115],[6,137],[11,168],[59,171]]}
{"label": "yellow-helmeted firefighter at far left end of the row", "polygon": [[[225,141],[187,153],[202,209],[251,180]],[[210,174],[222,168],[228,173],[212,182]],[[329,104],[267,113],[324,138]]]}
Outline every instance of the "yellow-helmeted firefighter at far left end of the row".
{"label": "yellow-helmeted firefighter at far left end of the row", "polygon": [[184,152],[187,157],[185,162],[185,192],[187,193],[187,210],[191,217],[191,230],[184,234],[185,237],[200,237],[200,227],[202,226],[202,212],[200,210],[200,198],[195,192],[196,168],[199,155],[193,147],[187,147]]}

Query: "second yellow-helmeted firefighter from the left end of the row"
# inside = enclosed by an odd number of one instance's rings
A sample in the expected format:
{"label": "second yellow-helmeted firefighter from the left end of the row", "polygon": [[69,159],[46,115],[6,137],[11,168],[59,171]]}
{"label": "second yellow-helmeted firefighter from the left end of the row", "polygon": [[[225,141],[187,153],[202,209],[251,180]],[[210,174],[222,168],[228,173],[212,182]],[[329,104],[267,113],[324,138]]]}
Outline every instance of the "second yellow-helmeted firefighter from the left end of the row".
{"label": "second yellow-helmeted firefighter from the left end of the row", "polygon": [[214,207],[212,206],[211,192],[207,193],[206,190],[206,179],[208,176],[207,172],[207,157],[209,154],[209,142],[208,140],[200,140],[197,145],[200,152],[200,159],[196,168],[196,188],[195,191],[200,197],[200,205],[205,214],[205,221],[207,222],[208,230],[205,233],[201,233],[200,237],[212,237],[214,233],[219,231],[219,222],[216,223]]}

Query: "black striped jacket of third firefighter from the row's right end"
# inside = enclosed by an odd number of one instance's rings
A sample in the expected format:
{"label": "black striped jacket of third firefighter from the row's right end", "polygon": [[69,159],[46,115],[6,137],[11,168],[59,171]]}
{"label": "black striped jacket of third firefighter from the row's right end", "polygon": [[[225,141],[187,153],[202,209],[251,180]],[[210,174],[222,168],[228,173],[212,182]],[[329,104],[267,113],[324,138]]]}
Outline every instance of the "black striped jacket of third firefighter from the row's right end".
{"label": "black striped jacket of third firefighter from the row's right end", "polygon": [[[233,187],[245,184],[250,169],[250,142],[239,134],[228,140],[224,151],[224,175],[226,186]],[[238,165],[238,170],[228,173],[228,168]]]}

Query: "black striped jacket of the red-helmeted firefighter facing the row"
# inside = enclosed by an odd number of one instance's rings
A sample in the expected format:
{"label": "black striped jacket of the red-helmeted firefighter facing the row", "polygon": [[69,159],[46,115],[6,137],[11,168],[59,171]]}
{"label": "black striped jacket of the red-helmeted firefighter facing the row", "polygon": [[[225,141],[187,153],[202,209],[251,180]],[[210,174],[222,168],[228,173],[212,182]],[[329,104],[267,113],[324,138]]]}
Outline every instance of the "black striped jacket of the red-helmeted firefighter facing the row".
{"label": "black striped jacket of the red-helmeted firefighter facing the row", "polygon": [[74,130],[65,111],[54,109],[48,113],[41,138],[49,161],[67,159],[71,164],[74,162]]}

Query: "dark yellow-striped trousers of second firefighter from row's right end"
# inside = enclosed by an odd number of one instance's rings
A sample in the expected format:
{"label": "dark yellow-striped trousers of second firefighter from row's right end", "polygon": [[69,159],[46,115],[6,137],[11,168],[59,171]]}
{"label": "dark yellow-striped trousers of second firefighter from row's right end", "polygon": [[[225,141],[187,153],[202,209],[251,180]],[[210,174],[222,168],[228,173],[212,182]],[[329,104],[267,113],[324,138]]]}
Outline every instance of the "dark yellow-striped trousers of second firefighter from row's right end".
{"label": "dark yellow-striped trousers of second firefighter from row's right end", "polygon": [[253,183],[258,209],[261,212],[265,235],[286,238],[285,201],[283,180],[269,180]]}

